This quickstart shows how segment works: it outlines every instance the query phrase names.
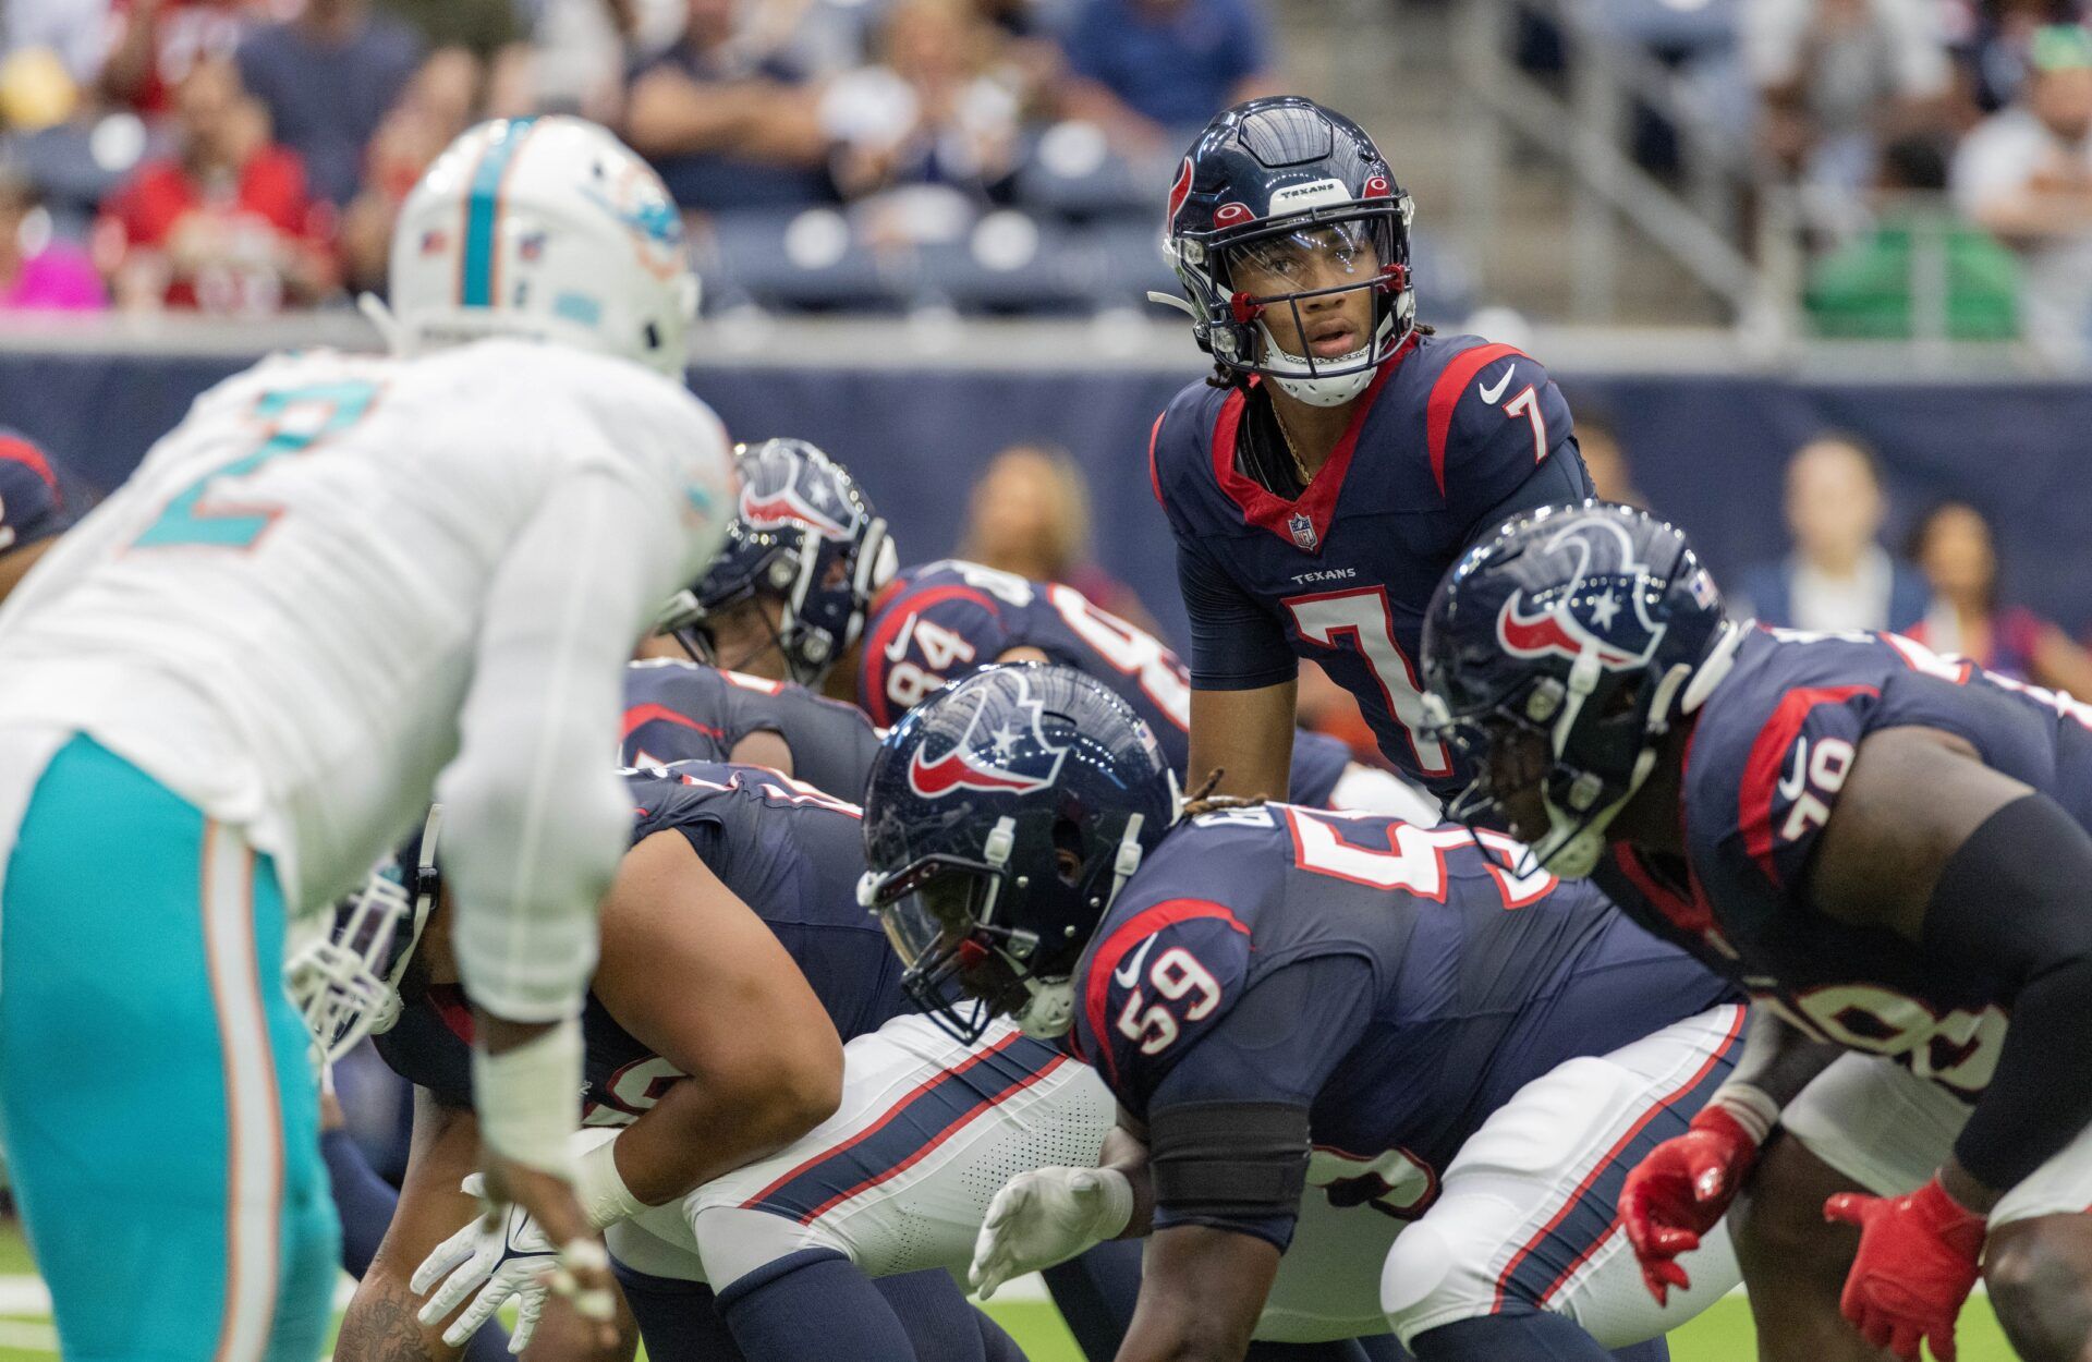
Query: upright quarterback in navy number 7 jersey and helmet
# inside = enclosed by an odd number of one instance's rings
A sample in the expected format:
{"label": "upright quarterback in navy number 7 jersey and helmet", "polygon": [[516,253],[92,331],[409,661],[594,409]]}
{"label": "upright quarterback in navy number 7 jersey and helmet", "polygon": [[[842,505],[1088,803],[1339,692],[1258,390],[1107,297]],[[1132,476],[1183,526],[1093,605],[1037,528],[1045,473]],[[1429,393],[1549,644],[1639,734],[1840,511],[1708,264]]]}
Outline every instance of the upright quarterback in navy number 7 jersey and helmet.
{"label": "upright quarterback in navy number 7 jersey and helmet", "polygon": [[1169,190],[1186,297],[1153,297],[1215,362],[1149,435],[1192,630],[1192,782],[1287,791],[1308,657],[1400,772],[1458,789],[1458,755],[1420,732],[1431,590],[1504,517],[1590,496],[1538,360],[1416,326],[1410,215],[1372,140],[1295,96],[1215,117]]}

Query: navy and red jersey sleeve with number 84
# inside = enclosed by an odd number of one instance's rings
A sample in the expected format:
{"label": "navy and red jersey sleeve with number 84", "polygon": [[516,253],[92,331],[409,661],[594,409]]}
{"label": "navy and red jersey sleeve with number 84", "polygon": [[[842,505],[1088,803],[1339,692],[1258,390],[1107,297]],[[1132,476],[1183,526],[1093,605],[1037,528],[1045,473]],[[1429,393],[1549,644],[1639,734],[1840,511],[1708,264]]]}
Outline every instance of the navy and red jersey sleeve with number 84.
{"label": "navy and red jersey sleeve with number 84", "polygon": [[858,672],[864,711],[881,728],[946,684],[996,661],[1010,644],[1008,607],[964,582],[895,596],[872,621]]}

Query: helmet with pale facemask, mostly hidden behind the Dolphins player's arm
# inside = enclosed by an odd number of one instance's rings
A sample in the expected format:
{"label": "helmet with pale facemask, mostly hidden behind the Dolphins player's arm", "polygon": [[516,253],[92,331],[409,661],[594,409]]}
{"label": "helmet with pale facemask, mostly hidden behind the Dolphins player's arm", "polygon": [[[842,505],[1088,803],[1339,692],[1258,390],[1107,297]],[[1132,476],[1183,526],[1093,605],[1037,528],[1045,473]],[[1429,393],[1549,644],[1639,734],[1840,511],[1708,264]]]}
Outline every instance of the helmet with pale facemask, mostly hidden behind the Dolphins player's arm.
{"label": "helmet with pale facemask, mostly hidden behind the Dolphins player's arm", "polygon": [[414,839],[370,870],[364,887],[335,904],[333,927],[285,962],[285,988],[312,1034],[314,1067],[400,1021],[400,977],[429,925],[441,877],[435,839],[444,808],[433,805]]}

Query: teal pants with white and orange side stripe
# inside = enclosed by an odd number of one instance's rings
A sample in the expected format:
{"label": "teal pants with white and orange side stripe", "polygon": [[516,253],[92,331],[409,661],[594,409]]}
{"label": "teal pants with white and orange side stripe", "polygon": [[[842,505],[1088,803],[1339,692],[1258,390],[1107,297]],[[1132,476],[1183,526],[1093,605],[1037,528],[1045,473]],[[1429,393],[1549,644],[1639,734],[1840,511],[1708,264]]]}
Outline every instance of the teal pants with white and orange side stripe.
{"label": "teal pants with white and orange side stripe", "polygon": [[67,1358],[314,1362],[339,1226],[276,870],[75,736],[0,902],[0,1119]]}

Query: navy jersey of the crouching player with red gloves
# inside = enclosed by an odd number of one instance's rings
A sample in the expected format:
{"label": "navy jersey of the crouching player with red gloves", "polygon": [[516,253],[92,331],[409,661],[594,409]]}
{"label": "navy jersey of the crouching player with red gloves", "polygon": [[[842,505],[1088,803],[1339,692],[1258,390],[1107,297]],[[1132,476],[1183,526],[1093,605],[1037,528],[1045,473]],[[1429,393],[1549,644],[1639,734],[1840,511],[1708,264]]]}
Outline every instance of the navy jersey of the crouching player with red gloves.
{"label": "navy jersey of the crouching player with red gloves", "polygon": [[1743,634],[1692,728],[1686,864],[1621,845],[1594,879],[1803,1031],[1902,1057],[1975,1096],[2004,1042],[1998,981],[1929,960],[1891,931],[1837,923],[1807,898],[1810,856],[1860,741],[1897,726],[1960,734],[2092,826],[2092,705],[1895,634],[1759,628]]}

